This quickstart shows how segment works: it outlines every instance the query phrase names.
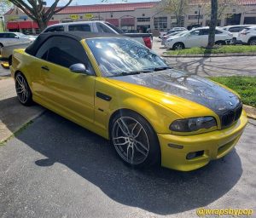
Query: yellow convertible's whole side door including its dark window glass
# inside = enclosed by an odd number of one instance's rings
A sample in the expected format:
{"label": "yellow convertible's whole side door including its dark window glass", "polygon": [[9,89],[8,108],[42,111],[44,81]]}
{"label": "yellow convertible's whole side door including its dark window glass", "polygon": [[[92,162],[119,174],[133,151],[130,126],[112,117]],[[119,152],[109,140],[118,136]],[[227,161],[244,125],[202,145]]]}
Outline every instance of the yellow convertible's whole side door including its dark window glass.
{"label": "yellow convertible's whole side door including its dark window glass", "polygon": [[76,123],[83,123],[81,119],[92,123],[96,77],[69,70],[73,64],[80,63],[94,75],[82,44],[70,37],[49,37],[36,56],[41,60],[40,98],[50,108]]}

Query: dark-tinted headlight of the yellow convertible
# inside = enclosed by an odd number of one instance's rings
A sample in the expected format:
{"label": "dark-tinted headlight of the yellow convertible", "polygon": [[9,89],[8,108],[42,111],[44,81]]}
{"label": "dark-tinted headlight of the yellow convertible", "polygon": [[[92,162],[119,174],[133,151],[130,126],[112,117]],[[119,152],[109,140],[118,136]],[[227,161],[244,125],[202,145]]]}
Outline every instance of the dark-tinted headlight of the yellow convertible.
{"label": "dark-tinted headlight of the yellow convertible", "polygon": [[214,126],[217,126],[215,118],[202,117],[177,119],[174,122],[172,122],[169,129],[175,132],[194,132],[199,129],[210,129]]}

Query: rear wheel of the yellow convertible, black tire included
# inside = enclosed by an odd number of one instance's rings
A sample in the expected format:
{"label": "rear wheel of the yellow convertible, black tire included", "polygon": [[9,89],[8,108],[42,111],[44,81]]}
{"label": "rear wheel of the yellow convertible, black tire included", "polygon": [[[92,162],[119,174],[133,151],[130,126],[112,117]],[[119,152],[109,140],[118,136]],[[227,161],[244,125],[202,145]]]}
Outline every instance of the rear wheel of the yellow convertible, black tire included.
{"label": "rear wheel of the yellow convertible, black tire included", "polygon": [[15,75],[15,89],[20,103],[24,106],[31,106],[32,91],[26,81],[26,77],[21,72]]}

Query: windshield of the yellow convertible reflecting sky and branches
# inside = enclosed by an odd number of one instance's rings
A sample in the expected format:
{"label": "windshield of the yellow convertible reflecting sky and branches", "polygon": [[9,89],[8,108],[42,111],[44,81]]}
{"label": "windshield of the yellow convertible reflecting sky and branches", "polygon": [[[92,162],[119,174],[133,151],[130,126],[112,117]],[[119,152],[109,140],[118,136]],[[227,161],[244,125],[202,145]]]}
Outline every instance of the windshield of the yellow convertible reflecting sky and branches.
{"label": "windshield of the yellow convertible reflecting sky and branches", "polygon": [[137,41],[127,38],[87,39],[103,77],[153,72],[168,68],[165,60]]}

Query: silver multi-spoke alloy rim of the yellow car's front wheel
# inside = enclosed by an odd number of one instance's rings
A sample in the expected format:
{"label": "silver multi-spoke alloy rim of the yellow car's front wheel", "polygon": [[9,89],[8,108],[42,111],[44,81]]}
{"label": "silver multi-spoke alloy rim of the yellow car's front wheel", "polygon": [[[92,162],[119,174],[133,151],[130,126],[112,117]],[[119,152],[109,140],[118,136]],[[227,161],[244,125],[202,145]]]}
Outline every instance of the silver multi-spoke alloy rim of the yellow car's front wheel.
{"label": "silver multi-spoke alloy rim of the yellow car's front wheel", "polygon": [[129,164],[142,164],[148,157],[148,135],[135,118],[118,118],[113,123],[112,140],[119,156]]}

